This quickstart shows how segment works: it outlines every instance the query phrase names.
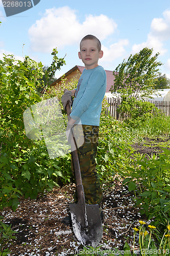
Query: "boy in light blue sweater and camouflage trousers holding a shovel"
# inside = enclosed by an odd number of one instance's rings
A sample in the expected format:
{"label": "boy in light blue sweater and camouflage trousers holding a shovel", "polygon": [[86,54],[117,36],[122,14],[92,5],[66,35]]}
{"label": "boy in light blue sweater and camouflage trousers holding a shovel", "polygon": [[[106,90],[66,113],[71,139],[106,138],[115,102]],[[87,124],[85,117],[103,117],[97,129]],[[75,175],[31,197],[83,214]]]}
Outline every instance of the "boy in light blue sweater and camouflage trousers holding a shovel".
{"label": "boy in light blue sweater and camouflage trousers holding a shovel", "polygon": [[[67,130],[81,120],[84,144],[78,148],[78,154],[85,202],[86,204],[99,204],[100,211],[102,188],[95,169],[95,156],[98,146],[102,100],[106,92],[106,72],[98,65],[98,60],[102,57],[103,51],[101,51],[99,39],[93,35],[83,37],[80,42],[79,58],[82,59],[85,69],[79,79],[77,89],[67,91],[62,96],[64,109],[67,101],[71,103],[71,96],[75,96]],[[102,221],[104,219],[103,211],[101,211],[101,219]],[[71,217],[65,217],[62,222],[65,225],[71,224]]]}

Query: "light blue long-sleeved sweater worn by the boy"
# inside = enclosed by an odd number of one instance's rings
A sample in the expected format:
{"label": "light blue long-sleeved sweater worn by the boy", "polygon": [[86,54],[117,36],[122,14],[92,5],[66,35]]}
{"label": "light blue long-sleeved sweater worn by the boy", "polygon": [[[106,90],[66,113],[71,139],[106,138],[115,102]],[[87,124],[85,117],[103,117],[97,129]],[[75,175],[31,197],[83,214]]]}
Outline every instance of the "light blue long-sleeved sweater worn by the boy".
{"label": "light blue long-sleeved sweater worn by the boy", "polygon": [[100,124],[102,101],[106,92],[106,72],[103,67],[84,69],[79,79],[70,117],[76,123]]}

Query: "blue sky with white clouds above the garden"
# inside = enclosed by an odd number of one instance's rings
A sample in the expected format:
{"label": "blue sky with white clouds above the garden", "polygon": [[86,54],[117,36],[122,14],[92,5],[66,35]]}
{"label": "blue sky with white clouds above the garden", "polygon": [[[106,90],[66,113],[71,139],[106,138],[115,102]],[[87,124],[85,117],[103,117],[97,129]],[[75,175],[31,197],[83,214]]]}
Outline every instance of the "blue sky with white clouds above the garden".
{"label": "blue sky with white clouds above the garden", "polygon": [[9,17],[0,0],[0,22],[0,58],[3,54],[20,60],[29,56],[50,66],[57,47],[59,58],[66,55],[66,65],[56,78],[76,65],[84,66],[78,52],[87,34],[100,39],[104,56],[99,65],[105,70],[115,70],[130,54],[149,47],[153,54],[160,53],[160,72],[170,78],[169,0],[41,0]]}

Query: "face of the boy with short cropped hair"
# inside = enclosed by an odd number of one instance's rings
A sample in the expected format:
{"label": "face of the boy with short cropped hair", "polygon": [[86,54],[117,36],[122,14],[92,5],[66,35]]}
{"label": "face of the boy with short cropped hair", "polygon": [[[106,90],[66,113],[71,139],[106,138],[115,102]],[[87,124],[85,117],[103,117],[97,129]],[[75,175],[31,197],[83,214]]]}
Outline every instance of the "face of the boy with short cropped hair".
{"label": "face of the boy with short cropped hair", "polygon": [[98,66],[99,58],[103,57],[103,51],[99,51],[95,40],[86,39],[81,42],[79,58],[82,59],[86,69],[94,69]]}

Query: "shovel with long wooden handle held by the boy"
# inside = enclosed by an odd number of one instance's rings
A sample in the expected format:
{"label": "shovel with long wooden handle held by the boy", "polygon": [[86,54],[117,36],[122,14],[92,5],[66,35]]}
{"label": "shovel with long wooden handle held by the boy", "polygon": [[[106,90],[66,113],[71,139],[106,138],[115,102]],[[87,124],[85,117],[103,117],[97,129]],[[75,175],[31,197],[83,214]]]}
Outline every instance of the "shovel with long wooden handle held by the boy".
{"label": "shovel with long wooden handle held by the boy", "polygon": [[[69,114],[71,113],[69,102],[67,102],[66,105],[66,112],[69,121]],[[73,143],[75,148],[76,140],[72,133],[71,146]],[[78,195],[78,203],[69,204],[72,229],[74,231],[75,237],[83,246],[96,247],[99,245],[103,234],[99,205],[87,205],[85,203],[84,188],[82,184],[77,148],[76,150],[72,151],[71,154],[75,170],[76,188]]]}

